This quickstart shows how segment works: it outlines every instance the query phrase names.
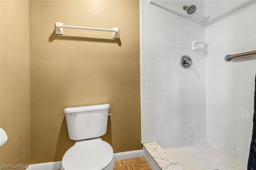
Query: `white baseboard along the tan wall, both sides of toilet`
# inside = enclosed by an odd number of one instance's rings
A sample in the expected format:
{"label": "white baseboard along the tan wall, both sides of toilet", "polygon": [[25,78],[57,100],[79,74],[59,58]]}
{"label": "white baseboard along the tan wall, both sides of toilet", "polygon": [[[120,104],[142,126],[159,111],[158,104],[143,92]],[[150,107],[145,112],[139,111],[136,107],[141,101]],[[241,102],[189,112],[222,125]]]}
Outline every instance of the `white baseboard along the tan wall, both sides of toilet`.
{"label": "white baseboard along the tan wall, both sides of toilet", "polygon": [[[143,156],[143,150],[132,150],[128,152],[114,153],[115,160],[130,159]],[[26,170],[60,170],[61,162],[46,162],[41,164],[31,164]]]}

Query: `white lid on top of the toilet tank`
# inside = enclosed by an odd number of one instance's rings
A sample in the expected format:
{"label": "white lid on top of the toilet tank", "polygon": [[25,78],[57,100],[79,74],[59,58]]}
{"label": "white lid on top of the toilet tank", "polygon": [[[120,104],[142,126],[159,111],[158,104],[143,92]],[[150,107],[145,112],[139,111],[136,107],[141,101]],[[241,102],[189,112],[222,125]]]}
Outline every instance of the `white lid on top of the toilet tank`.
{"label": "white lid on top of the toilet tank", "polygon": [[64,109],[64,113],[75,113],[75,112],[82,112],[82,111],[103,110],[103,109],[108,109],[109,107],[110,107],[109,104],[67,107],[66,109]]}

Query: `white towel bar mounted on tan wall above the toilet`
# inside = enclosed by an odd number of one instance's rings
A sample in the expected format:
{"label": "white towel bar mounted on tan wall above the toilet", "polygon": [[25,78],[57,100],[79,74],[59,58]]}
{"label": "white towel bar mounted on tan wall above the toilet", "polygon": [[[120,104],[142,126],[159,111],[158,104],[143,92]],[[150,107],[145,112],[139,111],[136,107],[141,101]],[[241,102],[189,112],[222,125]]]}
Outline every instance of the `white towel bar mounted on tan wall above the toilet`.
{"label": "white towel bar mounted on tan wall above the toilet", "polygon": [[63,28],[113,32],[113,38],[119,38],[119,28],[116,28],[116,27],[113,27],[113,29],[104,29],[104,28],[90,28],[90,27],[77,27],[77,26],[63,25],[63,23],[60,23],[60,22],[55,23],[56,34],[63,35]]}

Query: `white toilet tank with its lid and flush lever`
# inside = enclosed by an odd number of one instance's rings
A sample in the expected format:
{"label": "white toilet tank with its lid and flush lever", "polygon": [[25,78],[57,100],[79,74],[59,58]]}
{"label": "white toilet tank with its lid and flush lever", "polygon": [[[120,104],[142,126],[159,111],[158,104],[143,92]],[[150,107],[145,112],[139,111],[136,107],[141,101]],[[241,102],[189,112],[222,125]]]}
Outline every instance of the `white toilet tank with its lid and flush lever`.
{"label": "white toilet tank with its lid and flush lever", "polygon": [[109,104],[64,109],[68,136],[72,140],[100,137],[107,131]]}

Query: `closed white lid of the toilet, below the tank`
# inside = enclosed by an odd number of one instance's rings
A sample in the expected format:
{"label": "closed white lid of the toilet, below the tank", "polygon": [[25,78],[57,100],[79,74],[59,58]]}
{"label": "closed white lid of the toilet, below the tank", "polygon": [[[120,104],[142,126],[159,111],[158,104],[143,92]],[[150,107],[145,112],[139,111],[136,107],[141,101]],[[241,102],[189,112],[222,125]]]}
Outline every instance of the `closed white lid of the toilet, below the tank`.
{"label": "closed white lid of the toilet, below the tank", "polygon": [[62,158],[64,170],[102,170],[110,164],[114,152],[100,138],[77,141]]}

